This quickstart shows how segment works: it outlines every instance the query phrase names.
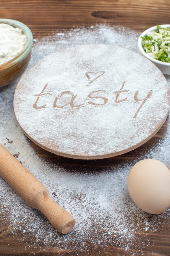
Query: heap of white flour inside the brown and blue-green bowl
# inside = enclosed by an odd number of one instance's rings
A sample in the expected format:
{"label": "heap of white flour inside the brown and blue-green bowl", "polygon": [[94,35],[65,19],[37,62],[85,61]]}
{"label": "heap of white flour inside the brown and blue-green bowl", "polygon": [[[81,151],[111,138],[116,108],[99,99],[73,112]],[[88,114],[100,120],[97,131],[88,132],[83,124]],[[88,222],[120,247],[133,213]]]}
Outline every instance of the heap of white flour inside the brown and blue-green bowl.
{"label": "heap of white flour inside the brown and blue-green bowl", "polygon": [[15,58],[25,43],[26,36],[22,29],[0,23],[0,65]]}

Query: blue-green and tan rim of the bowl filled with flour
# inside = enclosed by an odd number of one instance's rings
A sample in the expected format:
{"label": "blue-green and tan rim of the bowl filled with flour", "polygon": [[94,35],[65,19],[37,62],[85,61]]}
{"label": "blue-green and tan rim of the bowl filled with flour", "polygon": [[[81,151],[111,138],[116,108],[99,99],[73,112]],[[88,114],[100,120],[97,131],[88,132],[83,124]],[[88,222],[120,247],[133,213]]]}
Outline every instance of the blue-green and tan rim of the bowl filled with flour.
{"label": "blue-green and tan rim of the bowl filled with flour", "polygon": [[0,71],[2,71],[2,70],[6,70],[8,67],[11,67],[12,65],[15,65],[16,63],[18,63],[19,59],[21,61],[29,54],[33,46],[33,34],[29,29],[29,27],[27,27],[24,23],[18,20],[0,19],[0,23],[8,24],[8,25],[11,25],[12,27],[18,27],[22,29],[22,32],[26,36],[26,44],[24,45],[24,48],[22,49],[22,51],[11,60],[3,64],[0,64]]}

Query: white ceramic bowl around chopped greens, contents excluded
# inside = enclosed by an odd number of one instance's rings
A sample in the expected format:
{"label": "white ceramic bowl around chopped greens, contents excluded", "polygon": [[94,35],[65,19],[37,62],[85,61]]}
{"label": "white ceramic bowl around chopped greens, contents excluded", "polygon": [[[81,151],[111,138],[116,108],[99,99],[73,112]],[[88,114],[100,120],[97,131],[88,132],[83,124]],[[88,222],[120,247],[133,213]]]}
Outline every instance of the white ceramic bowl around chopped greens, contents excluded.
{"label": "white ceramic bowl around chopped greens, contents excluded", "polygon": [[[161,27],[170,27],[170,24],[163,24],[160,25]],[[166,62],[162,62],[162,61],[157,61],[154,58],[150,57],[148,54],[146,54],[146,52],[144,51],[143,47],[142,47],[142,38],[141,36],[145,36],[148,32],[156,30],[157,26],[154,27],[150,27],[149,29],[146,29],[140,36],[138,39],[138,43],[137,43],[137,52],[139,54],[141,54],[142,56],[148,58],[150,61],[152,61],[152,63],[154,63],[163,74],[168,74],[170,75],[170,63],[166,63]]]}

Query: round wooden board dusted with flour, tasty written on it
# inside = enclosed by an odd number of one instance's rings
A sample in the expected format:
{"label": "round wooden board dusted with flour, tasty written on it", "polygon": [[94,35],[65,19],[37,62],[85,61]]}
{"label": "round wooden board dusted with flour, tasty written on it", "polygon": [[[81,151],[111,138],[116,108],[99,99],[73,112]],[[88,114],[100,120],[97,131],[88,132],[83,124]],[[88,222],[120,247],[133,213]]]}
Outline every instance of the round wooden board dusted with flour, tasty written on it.
{"label": "round wooden board dusted with flour, tasty written on it", "polygon": [[112,45],[80,45],[44,57],[14,96],[24,133],[57,155],[99,159],[144,144],[168,115],[170,92],[159,69]]}

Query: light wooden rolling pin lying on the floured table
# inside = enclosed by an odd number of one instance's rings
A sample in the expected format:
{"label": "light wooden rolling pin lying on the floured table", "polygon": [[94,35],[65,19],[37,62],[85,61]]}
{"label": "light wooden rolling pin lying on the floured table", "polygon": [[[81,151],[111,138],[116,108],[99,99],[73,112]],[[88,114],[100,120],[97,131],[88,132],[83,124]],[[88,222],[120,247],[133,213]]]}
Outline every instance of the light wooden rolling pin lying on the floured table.
{"label": "light wooden rolling pin lying on the floured table", "polygon": [[49,191],[0,144],[0,175],[31,207],[39,209],[60,233],[75,225],[70,213],[50,197]]}

